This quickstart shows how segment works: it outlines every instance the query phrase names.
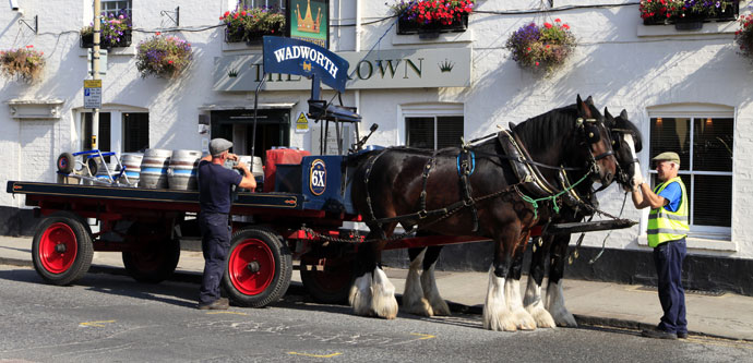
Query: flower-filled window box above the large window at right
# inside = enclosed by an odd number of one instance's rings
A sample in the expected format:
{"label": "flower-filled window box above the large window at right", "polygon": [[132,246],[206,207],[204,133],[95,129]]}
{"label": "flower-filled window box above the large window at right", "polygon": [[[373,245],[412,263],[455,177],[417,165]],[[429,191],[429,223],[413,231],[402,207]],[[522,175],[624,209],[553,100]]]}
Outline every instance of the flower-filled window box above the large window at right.
{"label": "flower-filled window box above the large window at right", "polygon": [[700,28],[704,22],[733,21],[740,3],[738,0],[641,0],[638,9],[644,25],[676,24],[678,29],[688,31]]}

